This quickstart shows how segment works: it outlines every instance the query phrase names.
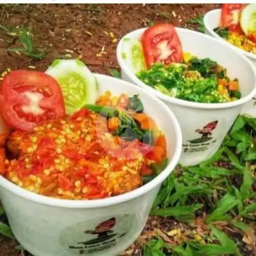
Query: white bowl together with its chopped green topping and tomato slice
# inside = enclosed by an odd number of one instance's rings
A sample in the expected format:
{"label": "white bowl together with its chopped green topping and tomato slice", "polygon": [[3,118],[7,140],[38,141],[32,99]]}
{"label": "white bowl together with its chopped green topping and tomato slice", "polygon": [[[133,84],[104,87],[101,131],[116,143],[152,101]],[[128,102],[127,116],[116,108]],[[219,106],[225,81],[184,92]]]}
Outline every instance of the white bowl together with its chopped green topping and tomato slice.
{"label": "white bowl together with its chopped green topping and tomato slice", "polygon": [[170,24],[126,34],[117,59],[122,79],[154,93],[176,115],[183,165],[214,155],[256,92],[255,67],[241,53],[213,37]]}

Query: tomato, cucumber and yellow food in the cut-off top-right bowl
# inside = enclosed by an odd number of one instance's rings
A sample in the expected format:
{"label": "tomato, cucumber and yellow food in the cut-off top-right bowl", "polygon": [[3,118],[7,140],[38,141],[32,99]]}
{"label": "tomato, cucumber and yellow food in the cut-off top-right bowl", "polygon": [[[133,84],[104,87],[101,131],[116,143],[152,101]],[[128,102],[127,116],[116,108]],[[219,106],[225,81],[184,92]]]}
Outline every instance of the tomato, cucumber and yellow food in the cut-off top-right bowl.
{"label": "tomato, cucumber and yellow food in the cut-off top-right bowl", "polygon": [[256,5],[223,4],[220,26],[214,32],[230,44],[256,54]]}

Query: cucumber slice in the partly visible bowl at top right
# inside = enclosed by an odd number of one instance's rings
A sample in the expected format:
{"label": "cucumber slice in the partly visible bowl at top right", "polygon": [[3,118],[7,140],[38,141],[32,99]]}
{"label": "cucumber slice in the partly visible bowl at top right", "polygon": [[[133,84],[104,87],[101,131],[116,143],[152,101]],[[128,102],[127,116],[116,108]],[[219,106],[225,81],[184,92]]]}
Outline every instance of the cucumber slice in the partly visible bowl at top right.
{"label": "cucumber slice in the partly visible bowl at top right", "polygon": [[240,26],[246,35],[256,33],[256,4],[249,4],[242,10]]}

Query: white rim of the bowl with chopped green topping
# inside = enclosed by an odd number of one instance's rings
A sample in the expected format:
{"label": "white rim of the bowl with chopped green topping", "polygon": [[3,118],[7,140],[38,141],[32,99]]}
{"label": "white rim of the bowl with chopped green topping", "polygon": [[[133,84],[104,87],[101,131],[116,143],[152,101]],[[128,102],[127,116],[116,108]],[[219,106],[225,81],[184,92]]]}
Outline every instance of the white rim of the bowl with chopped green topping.
{"label": "white rim of the bowl with chopped green topping", "polygon": [[186,100],[182,100],[182,99],[177,99],[177,98],[173,98],[170,96],[167,96],[165,94],[163,94],[162,92],[159,92],[153,88],[151,88],[150,86],[147,86],[147,84],[145,84],[144,82],[142,82],[139,78],[136,77],[136,75],[126,67],[125,62],[122,59],[122,55],[121,55],[121,48],[122,48],[122,42],[123,39],[126,37],[129,37],[135,33],[141,33],[145,30],[146,28],[141,28],[141,29],[137,29],[134,30],[130,33],[127,33],[126,35],[124,35],[120,41],[118,42],[117,45],[117,51],[116,51],[116,56],[117,56],[117,61],[119,66],[121,67],[121,70],[124,71],[124,73],[129,76],[129,78],[132,80],[132,82],[134,82],[135,84],[137,84],[140,87],[146,88],[148,91],[154,93],[157,97],[159,97],[160,99],[162,99],[165,102],[168,103],[172,103],[172,104],[176,104],[176,105],[181,105],[181,106],[187,106],[189,108],[193,108],[193,109],[210,109],[210,110],[216,110],[216,109],[228,109],[228,108],[233,108],[235,106],[244,104],[246,102],[248,102],[250,99],[252,99],[252,97],[254,97],[254,95],[256,94],[256,67],[254,67],[254,65],[251,63],[251,61],[248,60],[248,58],[246,58],[242,53],[238,52],[237,50],[234,50],[232,48],[230,48],[230,46],[228,46],[228,44],[226,44],[225,42],[218,40],[210,35],[206,35],[197,31],[193,31],[193,30],[189,30],[189,29],[184,29],[184,28],[179,28],[179,27],[175,27],[175,29],[177,30],[177,32],[179,33],[179,31],[184,31],[186,33],[191,33],[191,34],[197,34],[198,36],[201,37],[205,37],[208,38],[212,41],[214,41],[217,45],[223,45],[224,47],[228,47],[231,51],[233,51],[234,54],[239,55],[246,63],[247,65],[251,68],[252,73],[254,75],[254,88],[253,90],[251,90],[251,92],[242,97],[239,100],[236,101],[231,101],[231,102],[225,102],[225,103],[200,103],[200,102],[192,102],[192,101],[186,101]]}

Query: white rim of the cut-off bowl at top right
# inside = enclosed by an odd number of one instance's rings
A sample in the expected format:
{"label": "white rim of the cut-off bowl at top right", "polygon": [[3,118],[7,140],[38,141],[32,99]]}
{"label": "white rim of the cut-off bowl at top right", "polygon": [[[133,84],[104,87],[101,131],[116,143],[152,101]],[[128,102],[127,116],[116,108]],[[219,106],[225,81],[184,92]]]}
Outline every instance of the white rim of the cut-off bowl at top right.
{"label": "white rim of the cut-off bowl at top right", "polygon": [[222,40],[223,42],[225,42],[228,46],[232,47],[233,49],[236,49],[237,51],[239,51],[240,53],[243,53],[245,56],[247,56],[248,58],[251,58],[253,59],[254,61],[256,61],[256,54],[253,54],[253,53],[250,53],[250,52],[247,52],[237,46],[234,46],[232,44],[230,44],[230,42],[227,42],[225,39],[223,39],[222,37],[220,37],[216,32],[214,32],[213,29],[211,29],[211,26],[210,24],[208,23],[208,17],[211,13],[218,13],[221,12],[221,9],[215,9],[215,10],[211,10],[211,11],[208,11],[204,17],[203,17],[203,22],[204,22],[204,26],[206,28],[206,30],[212,35],[214,36],[215,38],[218,38],[220,40]]}

